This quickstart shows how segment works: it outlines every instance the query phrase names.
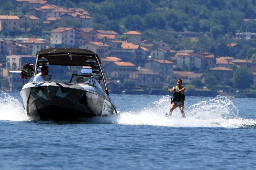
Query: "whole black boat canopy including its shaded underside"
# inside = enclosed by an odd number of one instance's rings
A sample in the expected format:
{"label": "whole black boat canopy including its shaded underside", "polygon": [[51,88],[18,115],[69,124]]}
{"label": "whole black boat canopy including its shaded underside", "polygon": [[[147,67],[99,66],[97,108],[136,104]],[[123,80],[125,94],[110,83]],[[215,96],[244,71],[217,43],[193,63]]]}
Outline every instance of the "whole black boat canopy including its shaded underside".
{"label": "whole black boat canopy including its shaded underside", "polygon": [[[96,62],[97,54],[86,49],[75,48],[49,48],[37,53],[38,59],[47,58],[50,65],[62,66],[88,66],[91,60]],[[90,60],[90,62],[89,62]],[[100,61],[100,60],[99,60]]]}

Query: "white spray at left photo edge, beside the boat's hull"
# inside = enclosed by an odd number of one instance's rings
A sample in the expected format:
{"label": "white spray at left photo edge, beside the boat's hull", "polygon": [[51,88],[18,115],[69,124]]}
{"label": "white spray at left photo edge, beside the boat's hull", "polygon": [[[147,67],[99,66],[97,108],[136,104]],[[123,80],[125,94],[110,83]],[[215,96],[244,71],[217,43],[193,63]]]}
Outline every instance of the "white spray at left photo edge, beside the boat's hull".
{"label": "white spray at left photo edge, beside the boat's hull", "polygon": [[22,104],[14,97],[1,92],[0,94],[0,120],[23,121],[29,120]]}

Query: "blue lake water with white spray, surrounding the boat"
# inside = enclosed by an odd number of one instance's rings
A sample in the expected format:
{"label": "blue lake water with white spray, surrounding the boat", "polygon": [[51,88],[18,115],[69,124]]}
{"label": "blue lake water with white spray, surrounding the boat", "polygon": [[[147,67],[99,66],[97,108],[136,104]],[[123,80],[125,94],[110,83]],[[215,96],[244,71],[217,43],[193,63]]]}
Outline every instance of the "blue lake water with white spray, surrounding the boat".
{"label": "blue lake water with white spray, surrounding the boat", "polygon": [[0,169],[255,169],[256,99],[111,95],[118,114],[30,121],[19,93],[0,95]]}

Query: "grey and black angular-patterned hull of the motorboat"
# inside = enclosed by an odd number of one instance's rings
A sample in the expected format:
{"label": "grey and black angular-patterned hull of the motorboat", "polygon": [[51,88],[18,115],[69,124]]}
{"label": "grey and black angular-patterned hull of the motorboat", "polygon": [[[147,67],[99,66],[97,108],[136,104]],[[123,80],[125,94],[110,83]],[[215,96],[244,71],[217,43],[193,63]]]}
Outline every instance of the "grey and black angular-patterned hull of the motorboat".
{"label": "grey and black angular-patterned hull of the motorboat", "polygon": [[31,120],[85,121],[117,113],[111,101],[88,89],[40,85],[22,89],[21,96]]}

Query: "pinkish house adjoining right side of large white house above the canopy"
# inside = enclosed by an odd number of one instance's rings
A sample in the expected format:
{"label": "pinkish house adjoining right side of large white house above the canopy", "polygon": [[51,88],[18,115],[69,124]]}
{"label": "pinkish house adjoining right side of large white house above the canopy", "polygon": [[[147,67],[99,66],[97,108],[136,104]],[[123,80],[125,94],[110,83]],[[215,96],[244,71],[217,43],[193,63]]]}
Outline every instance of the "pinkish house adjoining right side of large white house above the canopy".
{"label": "pinkish house adjoining right side of large white house above the canopy", "polygon": [[84,40],[84,43],[89,41],[96,41],[98,31],[94,28],[77,28],[78,35]]}

